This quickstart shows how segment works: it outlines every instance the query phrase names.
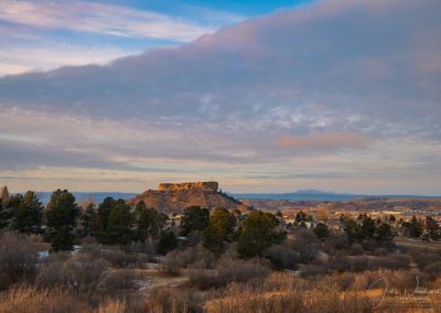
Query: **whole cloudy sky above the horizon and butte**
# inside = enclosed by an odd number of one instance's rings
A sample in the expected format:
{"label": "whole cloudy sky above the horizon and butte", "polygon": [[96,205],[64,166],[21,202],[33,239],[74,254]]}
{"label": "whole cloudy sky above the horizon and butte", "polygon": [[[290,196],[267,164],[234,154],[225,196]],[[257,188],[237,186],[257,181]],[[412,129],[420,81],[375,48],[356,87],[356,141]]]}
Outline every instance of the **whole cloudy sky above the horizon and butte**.
{"label": "whole cloudy sky above the horizon and butte", "polygon": [[441,2],[1,1],[0,185],[441,195]]}

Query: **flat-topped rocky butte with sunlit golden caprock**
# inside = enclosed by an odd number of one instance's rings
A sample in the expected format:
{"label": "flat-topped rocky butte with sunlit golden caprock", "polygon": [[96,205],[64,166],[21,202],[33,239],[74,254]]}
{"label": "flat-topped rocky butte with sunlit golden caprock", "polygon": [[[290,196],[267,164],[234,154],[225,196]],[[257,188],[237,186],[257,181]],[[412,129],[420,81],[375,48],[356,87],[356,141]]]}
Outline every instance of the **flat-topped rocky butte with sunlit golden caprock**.
{"label": "flat-topped rocky butte with sunlit golden caprock", "polygon": [[163,213],[182,213],[186,207],[197,205],[206,208],[218,206],[227,209],[246,211],[247,206],[218,191],[216,182],[160,184],[159,190],[149,190],[128,201],[136,205],[143,201],[148,207],[154,207]]}

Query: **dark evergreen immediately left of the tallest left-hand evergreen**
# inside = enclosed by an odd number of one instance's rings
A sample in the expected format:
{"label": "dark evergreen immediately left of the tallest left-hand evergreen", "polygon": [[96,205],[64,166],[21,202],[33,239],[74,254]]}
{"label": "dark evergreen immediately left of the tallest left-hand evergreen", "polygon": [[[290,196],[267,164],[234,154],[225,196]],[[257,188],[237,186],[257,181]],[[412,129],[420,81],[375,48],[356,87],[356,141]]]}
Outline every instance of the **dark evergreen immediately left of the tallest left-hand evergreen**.
{"label": "dark evergreen immediately left of the tallest left-hand evergreen", "polygon": [[[10,203],[14,203],[15,199]],[[12,228],[25,234],[41,233],[43,219],[43,203],[34,192],[26,192],[17,201],[12,209]]]}

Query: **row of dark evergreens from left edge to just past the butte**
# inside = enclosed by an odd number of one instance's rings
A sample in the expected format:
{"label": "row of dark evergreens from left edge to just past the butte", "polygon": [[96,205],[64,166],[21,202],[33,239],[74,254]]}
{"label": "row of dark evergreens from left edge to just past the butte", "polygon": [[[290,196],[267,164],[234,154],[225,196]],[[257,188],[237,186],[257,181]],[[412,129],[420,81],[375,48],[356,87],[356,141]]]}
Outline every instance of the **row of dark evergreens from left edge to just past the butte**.
{"label": "row of dark evergreens from left edge to just past the butte", "polygon": [[229,212],[223,207],[190,206],[183,211],[181,225],[168,223],[169,216],[141,201],[133,207],[123,199],[106,197],[100,204],[80,207],[67,190],[56,190],[44,206],[39,194],[9,195],[0,198],[0,228],[22,234],[43,235],[53,251],[72,250],[78,238],[92,236],[104,245],[127,245],[132,241],[155,240],[157,251],[165,255],[179,245],[181,236],[192,245],[192,237],[200,236],[203,246],[220,256],[229,242],[237,241],[243,258],[262,256],[271,245],[281,242],[286,233],[279,229],[275,215],[251,212]]}

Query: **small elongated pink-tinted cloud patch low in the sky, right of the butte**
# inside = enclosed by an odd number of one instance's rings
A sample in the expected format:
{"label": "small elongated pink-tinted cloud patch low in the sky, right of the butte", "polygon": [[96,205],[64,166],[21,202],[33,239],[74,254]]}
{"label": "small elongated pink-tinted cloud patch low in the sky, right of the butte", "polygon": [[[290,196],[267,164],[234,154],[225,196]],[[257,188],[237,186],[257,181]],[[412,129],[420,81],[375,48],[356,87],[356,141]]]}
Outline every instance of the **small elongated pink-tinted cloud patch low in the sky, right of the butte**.
{"label": "small elongated pink-tinted cloud patch low in the sky, right of the butte", "polygon": [[275,144],[282,149],[321,151],[364,148],[370,141],[368,137],[359,133],[331,131],[306,136],[283,136],[275,140]]}

